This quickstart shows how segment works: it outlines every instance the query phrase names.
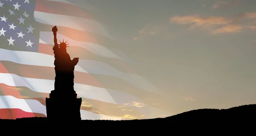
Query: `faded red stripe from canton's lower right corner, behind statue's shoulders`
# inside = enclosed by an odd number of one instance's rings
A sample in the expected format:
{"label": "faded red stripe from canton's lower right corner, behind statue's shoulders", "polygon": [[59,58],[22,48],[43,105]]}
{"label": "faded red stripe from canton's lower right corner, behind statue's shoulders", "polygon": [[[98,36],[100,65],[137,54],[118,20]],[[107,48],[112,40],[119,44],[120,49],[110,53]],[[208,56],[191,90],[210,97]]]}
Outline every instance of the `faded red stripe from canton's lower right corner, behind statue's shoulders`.
{"label": "faded red stripe from canton's lower right corner, behind statue's shoulders", "polygon": [[[48,54],[52,55],[52,46],[44,43],[39,43],[39,53],[42,54]],[[115,58],[107,58],[107,57],[100,57],[97,56],[96,54],[93,54],[92,52],[88,51],[85,48],[81,47],[76,47],[76,46],[70,46],[67,48],[68,54],[70,54],[70,57],[79,57],[79,59],[84,59],[84,60],[95,60],[95,61],[100,61],[104,62],[108,65],[111,65],[113,68],[125,72],[125,73],[130,73],[130,74],[135,74],[136,72],[134,71],[134,68],[131,68],[127,63],[125,63],[121,59],[115,59]]]}

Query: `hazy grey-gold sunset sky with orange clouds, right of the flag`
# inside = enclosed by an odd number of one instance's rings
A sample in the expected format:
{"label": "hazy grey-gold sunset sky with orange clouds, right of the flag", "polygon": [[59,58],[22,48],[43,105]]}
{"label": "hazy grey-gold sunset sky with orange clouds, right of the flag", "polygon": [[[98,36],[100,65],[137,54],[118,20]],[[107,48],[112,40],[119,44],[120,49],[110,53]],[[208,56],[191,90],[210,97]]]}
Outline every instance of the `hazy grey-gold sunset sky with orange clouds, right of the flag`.
{"label": "hazy grey-gold sunset sky with orange clouds, right of the flag", "polygon": [[88,1],[172,114],[256,103],[255,0]]}

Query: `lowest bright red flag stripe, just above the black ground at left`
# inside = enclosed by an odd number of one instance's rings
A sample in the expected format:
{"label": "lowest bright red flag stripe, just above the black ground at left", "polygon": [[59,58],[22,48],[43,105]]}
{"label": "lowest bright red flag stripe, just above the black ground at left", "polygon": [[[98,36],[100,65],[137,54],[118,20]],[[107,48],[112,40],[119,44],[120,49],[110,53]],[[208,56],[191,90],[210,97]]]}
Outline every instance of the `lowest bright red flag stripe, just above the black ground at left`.
{"label": "lowest bright red flag stripe, just above the black ground at left", "polygon": [[46,117],[41,113],[32,113],[22,111],[20,109],[0,109],[0,119],[17,119],[17,118],[27,118],[27,117]]}

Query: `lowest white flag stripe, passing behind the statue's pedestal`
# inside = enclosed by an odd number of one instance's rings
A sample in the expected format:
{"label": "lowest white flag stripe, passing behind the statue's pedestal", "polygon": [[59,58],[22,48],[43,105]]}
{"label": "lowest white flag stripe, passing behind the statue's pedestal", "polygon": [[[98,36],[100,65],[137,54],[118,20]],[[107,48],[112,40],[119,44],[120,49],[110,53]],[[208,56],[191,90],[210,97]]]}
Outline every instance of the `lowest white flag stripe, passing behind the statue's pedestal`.
{"label": "lowest white flag stripe, passing behind the statue's pedestal", "polygon": [[[17,108],[22,111],[30,112],[30,113],[41,113],[47,116],[46,113],[46,106],[42,105],[40,102],[34,99],[18,99],[15,98],[14,96],[0,96],[0,109],[5,109],[5,108]],[[62,109],[63,111],[60,112],[65,112],[65,109]],[[98,120],[101,119],[101,116],[106,116],[106,115],[101,115],[97,113],[93,113],[90,111],[84,111],[80,110],[81,113],[81,118],[84,119],[90,119],[90,120]],[[107,116],[108,117],[108,116]],[[109,116],[111,118],[111,116]]]}

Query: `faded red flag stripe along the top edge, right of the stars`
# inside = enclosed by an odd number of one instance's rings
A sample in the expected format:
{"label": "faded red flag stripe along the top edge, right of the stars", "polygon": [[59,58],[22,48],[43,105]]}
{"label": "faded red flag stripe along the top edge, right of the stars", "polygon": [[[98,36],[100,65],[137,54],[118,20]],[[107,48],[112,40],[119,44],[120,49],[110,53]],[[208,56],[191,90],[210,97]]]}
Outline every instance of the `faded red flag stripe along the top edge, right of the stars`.
{"label": "faded red flag stripe along the top edge, right of the stars", "polygon": [[79,8],[78,6],[51,0],[36,0],[35,11],[81,17],[90,20],[93,19],[89,14],[87,14],[83,9]]}

